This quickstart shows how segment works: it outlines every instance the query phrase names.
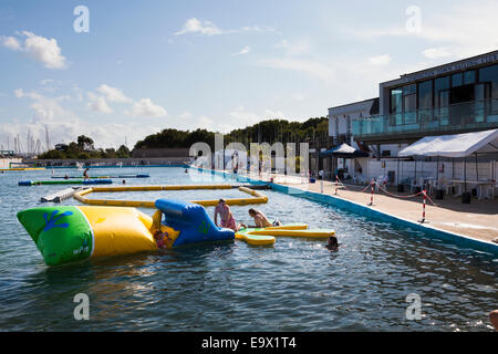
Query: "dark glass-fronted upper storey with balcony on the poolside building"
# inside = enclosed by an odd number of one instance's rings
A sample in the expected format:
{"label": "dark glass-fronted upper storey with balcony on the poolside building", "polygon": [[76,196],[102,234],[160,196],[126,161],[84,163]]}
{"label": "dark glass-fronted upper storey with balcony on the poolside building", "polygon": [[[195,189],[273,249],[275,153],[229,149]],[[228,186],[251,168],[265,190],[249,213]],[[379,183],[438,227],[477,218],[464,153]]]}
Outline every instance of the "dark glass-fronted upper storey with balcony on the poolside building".
{"label": "dark glass-fronted upper storey with balcony on the poolside building", "polygon": [[427,135],[498,127],[498,51],[380,84],[378,114],[353,121],[354,140],[412,144]]}

